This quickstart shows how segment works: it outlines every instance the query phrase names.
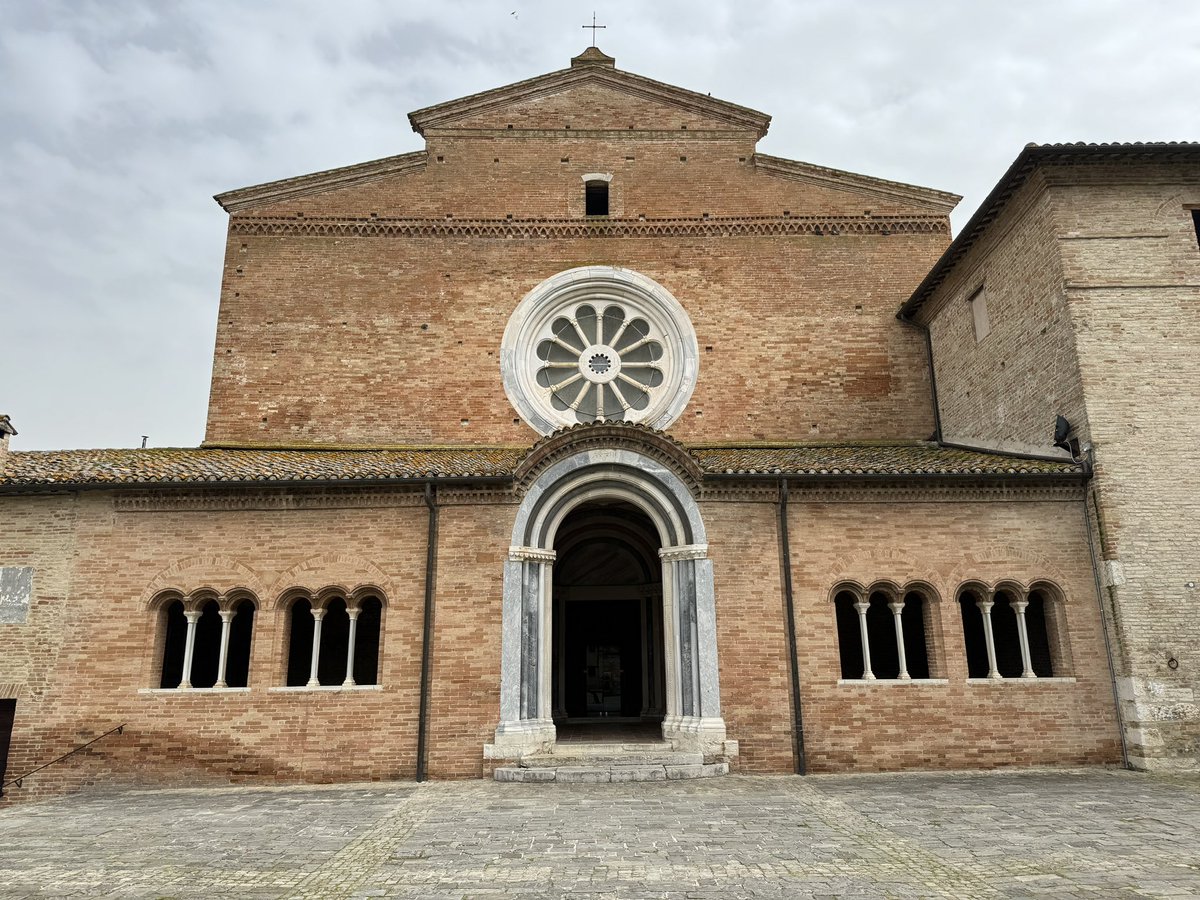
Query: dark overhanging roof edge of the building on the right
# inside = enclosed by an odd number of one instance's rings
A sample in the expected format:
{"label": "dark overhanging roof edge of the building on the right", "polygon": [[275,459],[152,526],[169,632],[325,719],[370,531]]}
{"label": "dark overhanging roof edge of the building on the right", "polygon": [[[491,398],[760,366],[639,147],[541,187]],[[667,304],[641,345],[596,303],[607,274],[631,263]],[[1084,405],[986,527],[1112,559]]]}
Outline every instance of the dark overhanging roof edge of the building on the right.
{"label": "dark overhanging roof edge of the building on the right", "polygon": [[1013,164],[979,204],[950,246],[924,277],[912,296],[905,300],[896,318],[912,320],[935,290],[949,277],[954,266],[967,254],[976,241],[1006,209],[1013,196],[1025,185],[1039,166],[1054,163],[1088,164],[1104,162],[1171,162],[1200,161],[1200,142],[1165,140],[1111,144],[1026,144]]}

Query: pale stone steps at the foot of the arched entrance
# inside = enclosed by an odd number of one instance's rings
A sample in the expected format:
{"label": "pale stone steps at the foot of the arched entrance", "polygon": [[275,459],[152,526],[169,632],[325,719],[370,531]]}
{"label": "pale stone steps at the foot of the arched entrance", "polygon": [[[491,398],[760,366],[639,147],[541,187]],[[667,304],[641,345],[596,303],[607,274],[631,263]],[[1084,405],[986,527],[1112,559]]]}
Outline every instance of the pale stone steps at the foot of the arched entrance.
{"label": "pale stone steps at the foot of the arched entrance", "polygon": [[497,781],[605,784],[727,775],[725,758],[674,750],[656,726],[563,727],[550,752],[523,756],[494,770]]}

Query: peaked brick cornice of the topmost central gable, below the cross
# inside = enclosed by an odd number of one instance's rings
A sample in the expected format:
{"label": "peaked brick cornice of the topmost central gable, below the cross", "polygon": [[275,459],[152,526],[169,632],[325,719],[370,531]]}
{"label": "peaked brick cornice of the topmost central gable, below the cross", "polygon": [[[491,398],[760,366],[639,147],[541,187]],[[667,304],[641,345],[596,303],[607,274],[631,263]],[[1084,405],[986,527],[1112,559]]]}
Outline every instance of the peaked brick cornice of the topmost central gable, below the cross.
{"label": "peaked brick cornice of the topmost central gable, below the cross", "polygon": [[427,128],[446,127],[469,115],[523,100],[559,94],[583,84],[599,84],[624,94],[632,94],[646,100],[719,119],[736,127],[752,131],[758,138],[762,138],[770,126],[770,116],[757,109],[715,100],[707,94],[697,94],[685,88],[677,88],[673,84],[655,82],[653,78],[618,70],[611,56],[605,56],[599,52],[592,54],[589,50],[584,50],[571,60],[570,68],[560,68],[527,78],[523,82],[515,82],[502,88],[469,94],[466,97],[416,109],[408,114],[408,121],[412,124],[413,131],[424,137]]}

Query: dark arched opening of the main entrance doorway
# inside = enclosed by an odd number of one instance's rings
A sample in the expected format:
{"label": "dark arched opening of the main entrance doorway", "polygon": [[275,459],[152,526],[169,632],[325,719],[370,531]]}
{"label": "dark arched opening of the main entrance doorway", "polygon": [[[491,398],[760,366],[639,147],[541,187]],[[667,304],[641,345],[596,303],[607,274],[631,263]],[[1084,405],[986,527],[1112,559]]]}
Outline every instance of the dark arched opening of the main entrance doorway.
{"label": "dark arched opening of the main entrance doorway", "polygon": [[[662,564],[650,518],[624,500],[587,503],[554,539],[554,724],[644,731],[666,712]],[[638,727],[641,726],[641,727]]]}

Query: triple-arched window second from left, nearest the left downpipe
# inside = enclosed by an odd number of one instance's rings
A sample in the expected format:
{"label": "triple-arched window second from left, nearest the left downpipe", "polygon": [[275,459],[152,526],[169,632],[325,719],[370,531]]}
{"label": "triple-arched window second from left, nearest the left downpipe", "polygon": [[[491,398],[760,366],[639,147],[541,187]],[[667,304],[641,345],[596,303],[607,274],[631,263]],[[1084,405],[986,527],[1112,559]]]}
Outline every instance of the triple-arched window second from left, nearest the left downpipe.
{"label": "triple-arched window second from left, nearest the left downpipe", "polygon": [[301,596],[288,606],[286,683],[293,688],[373,685],[379,683],[383,600],[326,593]]}

